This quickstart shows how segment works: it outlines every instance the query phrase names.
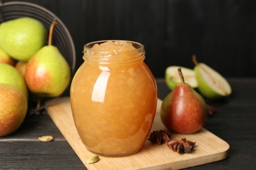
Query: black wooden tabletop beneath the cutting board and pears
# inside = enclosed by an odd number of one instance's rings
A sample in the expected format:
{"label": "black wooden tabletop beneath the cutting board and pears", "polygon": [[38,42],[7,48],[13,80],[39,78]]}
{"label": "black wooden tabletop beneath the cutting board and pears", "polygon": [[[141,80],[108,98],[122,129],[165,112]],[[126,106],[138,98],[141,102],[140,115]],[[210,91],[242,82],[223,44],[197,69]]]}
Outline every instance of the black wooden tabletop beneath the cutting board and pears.
{"label": "black wooden tabletop beneath the cutting board and pears", "polygon": [[[217,109],[205,128],[230,144],[225,160],[191,169],[254,169],[256,167],[256,78],[229,78],[232,95],[207,101]],[[170,90],[157,79],[158,97]],[[37,138],[53,135],[54,141]],[[26,118],[12,135],[0,137],[0,169],[85,169],[74,150],[46,112]]]}

